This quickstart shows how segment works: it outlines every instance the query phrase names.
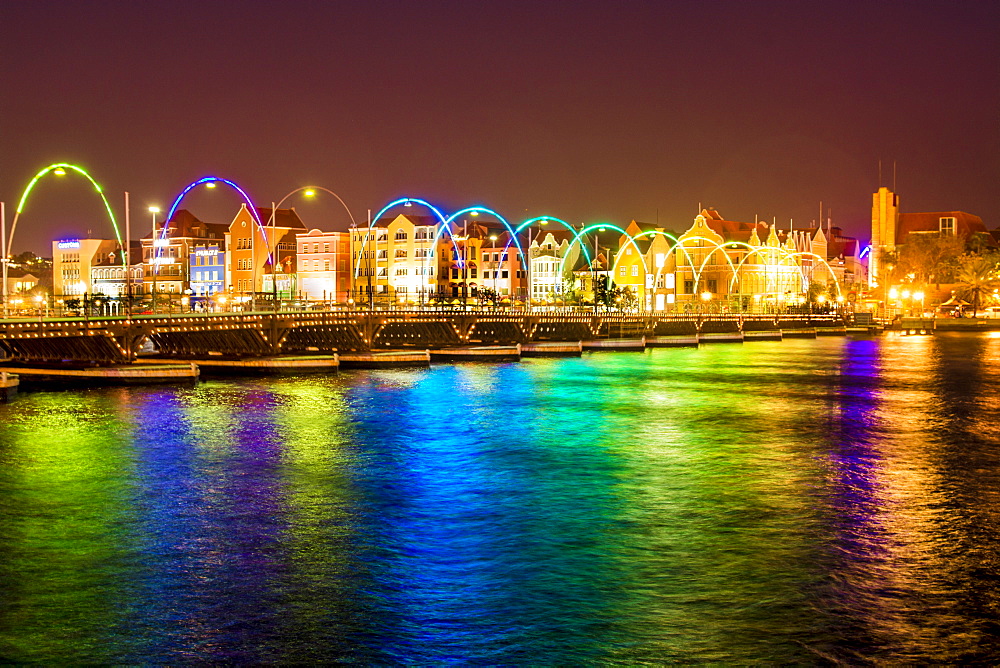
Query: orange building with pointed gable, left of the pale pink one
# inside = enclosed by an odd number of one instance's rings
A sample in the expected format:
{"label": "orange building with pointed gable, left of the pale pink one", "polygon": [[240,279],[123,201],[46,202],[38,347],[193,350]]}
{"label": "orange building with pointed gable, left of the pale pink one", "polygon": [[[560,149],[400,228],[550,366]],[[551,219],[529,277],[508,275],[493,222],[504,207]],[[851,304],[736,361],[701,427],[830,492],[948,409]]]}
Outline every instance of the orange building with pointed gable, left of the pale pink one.
{"label": "orange building with pointed gable, left of the pale pink one", "polygon": [[246,204],[223,235],[228,251],[227,292],[241,299],[291,298],[295,285],[296,235],[306,226],[295,209],[257,207],[257,225]]}

